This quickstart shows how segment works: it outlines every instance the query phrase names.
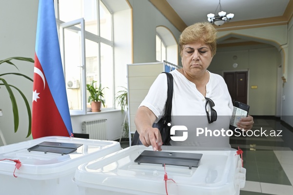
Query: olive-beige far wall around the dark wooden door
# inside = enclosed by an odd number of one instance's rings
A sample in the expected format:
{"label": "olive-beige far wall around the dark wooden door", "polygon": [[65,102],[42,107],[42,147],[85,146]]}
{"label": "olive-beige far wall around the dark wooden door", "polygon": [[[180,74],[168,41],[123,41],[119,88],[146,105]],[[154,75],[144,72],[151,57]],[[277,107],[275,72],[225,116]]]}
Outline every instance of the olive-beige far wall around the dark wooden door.
{"label": "olive-beige far wall around the dark wooden door", "polygon": [[[223,71],[249,69],[250,115],[275,116],[277,92],[277,67],[281,63],[280,54],[275,47],[221,49],[213,57],[209,71],[223,75]],[[230,51],[232,50],[232,51]],[[237,59],[233,59],[237,56]],[[233,68],[232,64],[238,67]],[[257,85],[257,89],[251,89]]]}

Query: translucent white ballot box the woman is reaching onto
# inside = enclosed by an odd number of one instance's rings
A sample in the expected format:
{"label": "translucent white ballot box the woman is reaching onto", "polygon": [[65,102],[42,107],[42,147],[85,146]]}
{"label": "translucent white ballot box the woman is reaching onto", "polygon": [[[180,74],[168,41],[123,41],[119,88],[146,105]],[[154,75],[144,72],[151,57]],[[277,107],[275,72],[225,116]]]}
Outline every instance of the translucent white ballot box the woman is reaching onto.
{"label": "translucent white ballot box the woman is reaching onto", "polygon": [[131,146],[80,165],[73,180],[81,195],[239,195],[245,185],[246,169],[234,149],[162,150]]}

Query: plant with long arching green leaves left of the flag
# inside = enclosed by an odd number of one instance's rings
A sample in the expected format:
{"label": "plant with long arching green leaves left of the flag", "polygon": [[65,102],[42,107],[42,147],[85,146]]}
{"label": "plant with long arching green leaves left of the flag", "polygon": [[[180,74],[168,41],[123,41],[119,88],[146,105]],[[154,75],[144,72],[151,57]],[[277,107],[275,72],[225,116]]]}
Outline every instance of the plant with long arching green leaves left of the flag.
{"label": "plant with long arching green leaves left of the flag", "polygon": [[[23,61],[28,61],[28,62],[34,63],[34,60],[31,59],[31,58],[12,57],[12,58],[8,58],[8,59],[0,60],[0,64],[8,63],[8,64],[14,66],[16,69],[18,69],[17,66],[13,62],[11,62],[12,59],[23,60]],[[27,98],[24,96],[24,94],[21,92],[21,90],[19,88],[17,88],[14,85],[8,84],[6,79],[3,78],[3,76],[5,76],[5,75],[21,76],[21,77],[27,78],[27,79],[29,79],[31,81],[33,81],[33,79],[31,79],[31,78],[29,78],[29,77],[27,77],[27,76],[25,76],[25,75],[23,75],[21,73],[3,73],[3,74],[0,74],[0,81],[2,82],[2,83],[0,82],[0,87],[4,86],[4,89],[6,88],[8,94],[9,94],[11,103],[12,103],[12,111],[13,111],[13,118],[14,118],[14,132],[16,133],[17,130],[18,130],[18,127],[19,127],[19,109],[18,109],[18,106],[17,106],[17,102],[16,102],[16,99],[15,99],[14,93],[12,91],[12,88],[16,89],[21,94],[21,97],[24,100],[24,103],[25,103],[25,106],[26,106],[26,109],[27,109],[28,122],[29,122],[29,124],[28,124],[28,132],[27,132],[26,137],[29,137],[30,134],[31,134],[31,126],[32,126],[32,115],[31,115],[31,110],[30,110],[29,103],[27,101]]]}

